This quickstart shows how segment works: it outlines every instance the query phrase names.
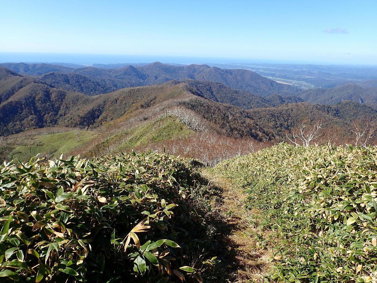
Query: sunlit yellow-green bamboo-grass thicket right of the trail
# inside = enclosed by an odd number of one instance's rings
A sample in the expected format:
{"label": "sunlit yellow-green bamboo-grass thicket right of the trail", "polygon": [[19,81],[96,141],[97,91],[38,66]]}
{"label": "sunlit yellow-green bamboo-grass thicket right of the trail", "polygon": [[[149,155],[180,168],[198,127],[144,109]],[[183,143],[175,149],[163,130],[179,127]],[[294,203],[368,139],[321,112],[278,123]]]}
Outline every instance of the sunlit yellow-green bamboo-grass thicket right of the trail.
{"label": "sunlit yellow-green bamboo-grass thicket right of the trail", "polygon": [[266,280],[376,282],[377,148],[280,144],[217,169],[274,231]]}

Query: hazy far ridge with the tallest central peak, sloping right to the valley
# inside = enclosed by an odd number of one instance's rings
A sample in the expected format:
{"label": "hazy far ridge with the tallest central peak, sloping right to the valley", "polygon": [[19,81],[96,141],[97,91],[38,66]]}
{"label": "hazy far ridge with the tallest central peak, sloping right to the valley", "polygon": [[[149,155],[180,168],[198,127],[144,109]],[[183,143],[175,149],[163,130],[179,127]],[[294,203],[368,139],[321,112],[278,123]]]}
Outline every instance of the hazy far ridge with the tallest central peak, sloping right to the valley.
{"label": "hazy far ridge with the tallest central peak, sloping right to the valley", "polygon": [[[293,94],[298,88],[277,83],[255,72],[243,69],[220,69],[208,65],[172,66],[154,62],[145,66],[126,66],[120,69],[99,69],[93,67],[75,69],[73,72],[87,76],[124,80],[123,87],[137,85],[154,85],[169,80],[187,78],[223,83],[231,88],[242,89],[255,94]],[[131,84],[131,85],[130,85]]]}

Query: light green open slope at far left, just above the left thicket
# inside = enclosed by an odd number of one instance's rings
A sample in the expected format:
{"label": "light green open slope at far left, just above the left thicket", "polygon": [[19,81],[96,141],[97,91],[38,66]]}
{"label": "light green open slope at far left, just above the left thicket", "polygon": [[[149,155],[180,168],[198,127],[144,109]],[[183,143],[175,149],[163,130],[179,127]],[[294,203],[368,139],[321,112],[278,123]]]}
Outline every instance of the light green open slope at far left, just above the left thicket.
{"label": "light green open slope at far left, just above the left thicket", "polygon": [[78,146],[84,145],[98,134],[90,131],[70,131],[57,134],[37,135],[34,137],[16,138],[0,142],[0,151],[7,160],[27,161],[41,153],[48,158],[67,154]]}

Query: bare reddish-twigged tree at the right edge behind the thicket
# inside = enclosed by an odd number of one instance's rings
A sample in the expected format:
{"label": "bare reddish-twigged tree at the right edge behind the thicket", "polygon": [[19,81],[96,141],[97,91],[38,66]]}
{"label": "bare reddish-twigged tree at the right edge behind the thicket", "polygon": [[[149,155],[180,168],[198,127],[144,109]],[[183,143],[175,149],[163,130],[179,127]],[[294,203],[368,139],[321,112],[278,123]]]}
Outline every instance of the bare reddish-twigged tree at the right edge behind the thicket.
{"label": "bare reddish-twigged tree at the right edge behind the thicket", "polygon": [[360,146],[370,145],[372,139],[377,135],[377,125],[372,121],[372,118],[365,118],[361,123],[354,121],[352,123],[354,134],[354,144]]}

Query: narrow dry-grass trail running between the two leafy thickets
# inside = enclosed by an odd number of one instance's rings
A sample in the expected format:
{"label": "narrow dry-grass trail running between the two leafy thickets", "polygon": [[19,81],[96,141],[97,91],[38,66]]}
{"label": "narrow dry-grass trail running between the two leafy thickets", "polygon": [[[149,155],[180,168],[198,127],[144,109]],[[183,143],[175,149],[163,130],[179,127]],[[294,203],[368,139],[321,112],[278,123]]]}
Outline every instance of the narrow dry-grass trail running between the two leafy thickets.
{"label": "narrow dry-grass trail running between the two leafy thickets", "polygon": [[[267,275],[266,262],[272,251],[271,248],[259,247],[261,240],[258,235],[263,232],[251,221],[251,215],[258,215],[258,211],[245,209],[246,195],[228,180],[207,170],[202,171],[202,176],[222,191],[222,203],[215,213],[224,221],[224,231],[221,231],[219,238],[224,252],[221,260],[225,261],[232,273],[231,282],[261,282],[262,277]],[[264,234],[263,237],[267,238],[268,235]]]}

